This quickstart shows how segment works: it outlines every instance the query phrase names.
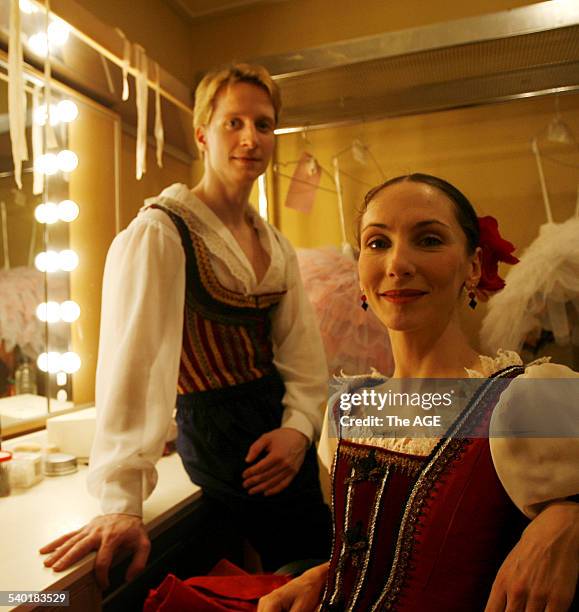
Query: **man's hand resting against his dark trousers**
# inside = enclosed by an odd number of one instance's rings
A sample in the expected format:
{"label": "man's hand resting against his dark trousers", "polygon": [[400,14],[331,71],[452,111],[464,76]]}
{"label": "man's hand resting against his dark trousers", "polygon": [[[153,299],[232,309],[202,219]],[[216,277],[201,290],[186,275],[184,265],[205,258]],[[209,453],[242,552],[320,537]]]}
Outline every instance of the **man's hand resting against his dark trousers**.
{"label": "man's hand resting against his dark trousers", "polygon": [[302,467],[309,444],[303,433],[291,427],[280,427],[260,436],[249,447],[245,461],[252,463],[262,453],[266,455],[243,472],[244,488],[250,495],[275,495],[283,491]]}

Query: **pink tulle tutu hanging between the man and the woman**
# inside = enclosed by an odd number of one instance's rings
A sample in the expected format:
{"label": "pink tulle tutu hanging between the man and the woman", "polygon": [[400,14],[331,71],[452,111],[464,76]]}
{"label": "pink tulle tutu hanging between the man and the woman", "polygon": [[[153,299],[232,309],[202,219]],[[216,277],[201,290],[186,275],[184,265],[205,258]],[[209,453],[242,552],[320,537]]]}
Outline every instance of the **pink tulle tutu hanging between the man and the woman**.
{"label": "pink tulle tutu hanging between the man and the woman", "polygon": [[388,331],[360,307],[360,282],[353,256],[335,247],[299,249],[306,293],[314,307],[330,374],[385,375],[394,369]]}

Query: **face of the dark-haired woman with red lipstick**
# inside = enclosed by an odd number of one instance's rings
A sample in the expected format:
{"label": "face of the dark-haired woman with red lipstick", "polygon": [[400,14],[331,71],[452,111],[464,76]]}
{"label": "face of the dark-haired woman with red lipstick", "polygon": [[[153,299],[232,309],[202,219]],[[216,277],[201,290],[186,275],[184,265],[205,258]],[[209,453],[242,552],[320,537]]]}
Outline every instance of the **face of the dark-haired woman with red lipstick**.
{"label": "face of the dark-haired woman with red lipstick", "polygon": [[360,249],[362,291],[391,330],[442,332],[465,282],[480,276],[454,204],[423,183],[404,181],[376,194],[362,217]]}

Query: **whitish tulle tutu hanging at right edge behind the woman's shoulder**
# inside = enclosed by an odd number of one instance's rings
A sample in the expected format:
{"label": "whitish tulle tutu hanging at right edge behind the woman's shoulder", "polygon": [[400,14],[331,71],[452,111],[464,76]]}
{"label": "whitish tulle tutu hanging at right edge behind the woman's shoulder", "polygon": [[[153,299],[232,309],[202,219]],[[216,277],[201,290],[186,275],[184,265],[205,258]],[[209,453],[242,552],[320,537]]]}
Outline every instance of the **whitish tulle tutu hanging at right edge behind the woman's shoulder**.
{"label": "whitish tulle tutu hanging at right edge behind the woman's shoulder", "polygon": [[579,218],[542,225],[506,283],[488,303],[485,350],[520,351],[541,330],[551,331],[561,346],[579,346]]}

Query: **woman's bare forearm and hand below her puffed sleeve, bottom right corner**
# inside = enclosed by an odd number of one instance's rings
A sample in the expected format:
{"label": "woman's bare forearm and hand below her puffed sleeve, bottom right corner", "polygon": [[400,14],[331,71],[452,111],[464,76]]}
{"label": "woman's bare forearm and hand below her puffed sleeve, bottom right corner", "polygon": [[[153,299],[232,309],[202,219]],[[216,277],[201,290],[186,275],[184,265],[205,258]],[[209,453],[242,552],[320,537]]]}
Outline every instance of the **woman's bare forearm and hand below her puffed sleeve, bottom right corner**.
{"label": "woman's bare forearm and hand below her puffed sleeve, bottom right corner", "polygon": [[485,612],[567,612],[579,576],[579,504],[538,514],[502,564]]}

